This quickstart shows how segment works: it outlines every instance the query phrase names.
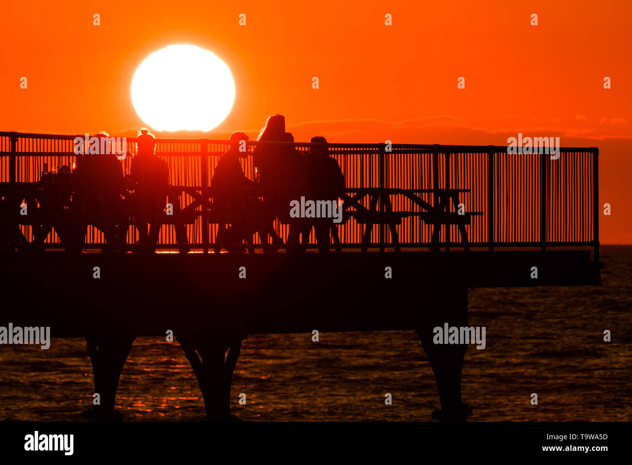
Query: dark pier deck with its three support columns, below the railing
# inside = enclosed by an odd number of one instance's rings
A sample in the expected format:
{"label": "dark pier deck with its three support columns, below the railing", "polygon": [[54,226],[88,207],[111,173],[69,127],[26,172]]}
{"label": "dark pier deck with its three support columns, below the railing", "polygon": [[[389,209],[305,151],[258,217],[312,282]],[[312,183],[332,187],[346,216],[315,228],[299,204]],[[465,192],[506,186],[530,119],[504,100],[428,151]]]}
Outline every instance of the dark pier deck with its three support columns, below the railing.
{"label": "dark pier deck with its three support columns, below the railing", "polygon": [[135,337],[173,331],[207,418],[217,421],[230,418],[233,369],[248,334],[414,330],[439,388],[434,418],[463,421],[471,414],[461,401],[467,346],[435,345],[432,328],[468,326],[468,288],[598,285],[599,269],[590,251],[13,253],[2,256],[0,279],[28,293],[28,307],[5,307],[0,326],[87,337],[101,398],[88,417],[97,420],[116,419],[116,386]]}

